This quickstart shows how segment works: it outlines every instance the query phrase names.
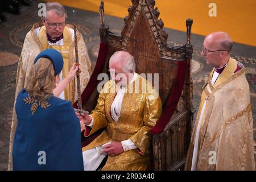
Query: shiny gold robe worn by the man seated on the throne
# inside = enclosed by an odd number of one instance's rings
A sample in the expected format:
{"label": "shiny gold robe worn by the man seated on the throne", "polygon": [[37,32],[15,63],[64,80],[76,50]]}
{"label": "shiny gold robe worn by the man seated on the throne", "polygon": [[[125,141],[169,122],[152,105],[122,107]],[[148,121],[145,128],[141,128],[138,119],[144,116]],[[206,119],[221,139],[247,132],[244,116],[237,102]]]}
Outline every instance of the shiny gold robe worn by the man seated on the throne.
{"label": "shiny gold robe worn by the man seated on the throne", "polygon": [[[149,86],[150,89],[145,89],[148,84],[150,82],[139,76],[135,82],[127,86],[127,93],[123,96],[121,115],[117,122],[113,121],[110,114],[110,107],[115,97],[115,83],[108,81],[102,88],[97,106],[90,114],[94,119],[92,130],[85,137],[98,129],[106,127],[106,130],[92,143],[82,148],[82,151],[101,146],[109,141],[121,142],[127,139],[137,146],[137,149],[109,156],[103,170],[145,170],[147,168],[150,162],[148,147],[151,142],[148,131],[155,126],[162,114],[160,97],[154,88]],[[133,91],[129,92],[129,88]],[[143,92],[144,90],[146,92]]]}

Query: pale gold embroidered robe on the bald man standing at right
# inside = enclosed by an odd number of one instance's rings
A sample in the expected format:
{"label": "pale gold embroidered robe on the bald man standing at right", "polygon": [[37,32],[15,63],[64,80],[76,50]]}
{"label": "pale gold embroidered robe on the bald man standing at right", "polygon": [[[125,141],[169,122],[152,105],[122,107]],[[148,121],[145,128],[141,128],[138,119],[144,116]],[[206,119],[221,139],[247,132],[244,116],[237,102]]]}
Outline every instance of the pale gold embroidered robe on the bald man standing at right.
{"label": "pale gold embroidered robe on the bald man standing at right", "polygon": [[[242,69],[234,73],[237,65]],[[230,58],[214,85],[210,78],[201,96],[185,169],[191,170],[196,129],[207,99],[199,131],[196,170],[255,170],[253,117],[245,68]]]}

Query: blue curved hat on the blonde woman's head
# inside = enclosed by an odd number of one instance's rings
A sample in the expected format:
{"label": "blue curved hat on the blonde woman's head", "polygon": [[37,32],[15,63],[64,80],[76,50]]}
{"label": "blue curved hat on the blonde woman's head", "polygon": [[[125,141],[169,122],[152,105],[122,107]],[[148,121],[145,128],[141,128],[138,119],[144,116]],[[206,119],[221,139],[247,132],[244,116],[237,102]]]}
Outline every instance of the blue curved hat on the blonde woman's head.
{"label": "blue curved hat on the blonde woman's head", "polygon": [[46,57],[52,61],[54,72],[55,72],[54,76],[58,75],[61,72],[64,62],[63,62],[63,57],[61,56],[59,51],[56,51],[55,49],[46,49],[40,52],[39,55],[36,56],[34,64],[41,57]]}

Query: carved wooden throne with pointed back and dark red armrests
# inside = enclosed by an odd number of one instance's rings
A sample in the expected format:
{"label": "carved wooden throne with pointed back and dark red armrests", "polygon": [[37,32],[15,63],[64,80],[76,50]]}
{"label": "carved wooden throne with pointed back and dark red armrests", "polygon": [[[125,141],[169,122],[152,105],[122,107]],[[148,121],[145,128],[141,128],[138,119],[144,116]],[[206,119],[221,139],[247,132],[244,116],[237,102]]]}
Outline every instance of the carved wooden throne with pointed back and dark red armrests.
{"label": "carved wooden throne with pointed back and dark red armrests", "polygon": [[[183,169],[192,131],[192,80],[190,38],[192,20],[187,19],[187,43],[167,44],[168,35],[158,19],[155,0],[133,0],[121,36],[109,31],[102,18],[101,46],[89,84],[82,94],[83,108],[93,110],[97,104],[97,75],[108,73],[109,58],[115,51],[125,50],[135,57],[137,73],[159,73],[159,95],[163,114],[152,134],[150,169]],[[102,5],[101,5],[102,7]],[[102,12],[101,12],[102,13]],[[154,78],[153,78],[154,79]],[[154,82],[152,83],[154,84]]]}

